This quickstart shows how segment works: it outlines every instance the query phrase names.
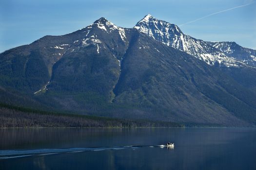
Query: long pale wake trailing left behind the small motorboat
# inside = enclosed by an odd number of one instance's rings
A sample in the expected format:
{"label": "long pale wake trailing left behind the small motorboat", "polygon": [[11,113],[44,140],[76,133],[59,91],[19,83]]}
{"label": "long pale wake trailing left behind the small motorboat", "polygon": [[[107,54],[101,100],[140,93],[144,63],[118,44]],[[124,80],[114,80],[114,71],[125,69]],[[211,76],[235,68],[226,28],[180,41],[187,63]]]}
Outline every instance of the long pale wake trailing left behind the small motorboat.
{"label": "long pale wake trailing left behind the small motorboat", "polygon": [[166,147],[165,145],[157,146],[118,146],[118,147],[89,147],[89,148],[61,148],[61,149],[33,149],[33,150],[0,150],[0,160],[10,158],[20,158],[26,156],[42,156],[52,155],[58,153],[80,153],[80,152],[91,152],[91,151],[106,151],[106,150],[122,150],[122,149],[138,149],[138,148],[154,148],[154,147]]}

